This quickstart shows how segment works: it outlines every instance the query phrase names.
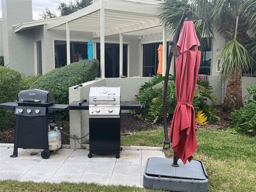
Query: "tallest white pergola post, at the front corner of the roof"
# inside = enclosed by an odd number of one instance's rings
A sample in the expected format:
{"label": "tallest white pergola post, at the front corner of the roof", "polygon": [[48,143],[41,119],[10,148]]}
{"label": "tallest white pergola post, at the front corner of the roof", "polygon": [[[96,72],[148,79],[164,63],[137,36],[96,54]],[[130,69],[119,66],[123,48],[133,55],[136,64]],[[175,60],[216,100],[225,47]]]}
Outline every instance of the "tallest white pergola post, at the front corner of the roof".
{"label": "tallest white pergola post, at the front corner of the roof", "polygon": [[100,9],[100,77],[105,78],[105,12]]}

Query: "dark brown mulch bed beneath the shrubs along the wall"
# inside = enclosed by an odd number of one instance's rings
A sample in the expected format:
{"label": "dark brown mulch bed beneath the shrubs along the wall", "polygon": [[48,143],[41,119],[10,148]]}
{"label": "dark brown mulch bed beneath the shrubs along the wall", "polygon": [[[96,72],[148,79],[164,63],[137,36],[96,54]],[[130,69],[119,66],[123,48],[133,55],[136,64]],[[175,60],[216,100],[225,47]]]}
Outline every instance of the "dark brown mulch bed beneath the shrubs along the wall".
{"label": "dark brown mulch bed beneath the shrubs along the wall", "polygon": [[[219,111],[220,120],[214,124],[208,124],[206,126],[201,126],[201,128],[209,130],[227,130],[230,126],[230,114],[222,112],[222,106],[216,106],[216,110]],[[170,127],[171,118],[167,119],[167,126]],[[57,121],[56,125],[62,127],[62,132],[69,134],[69,122],[68,121]],[[157,129],[159,126],[163,126],[163,119],[158,120],[155,124],[147,124],[144,120],[131,115],[129,113],[121,114],[121,132],[126,134],[127,132],[136,132],[149,129]],[[14,143],[14,131],[15,130],[15,118],[12,124],[5,129],[0,130],[0,143]],[[70,144],[70,138],[66,134],[62,135],[62,144]]]}

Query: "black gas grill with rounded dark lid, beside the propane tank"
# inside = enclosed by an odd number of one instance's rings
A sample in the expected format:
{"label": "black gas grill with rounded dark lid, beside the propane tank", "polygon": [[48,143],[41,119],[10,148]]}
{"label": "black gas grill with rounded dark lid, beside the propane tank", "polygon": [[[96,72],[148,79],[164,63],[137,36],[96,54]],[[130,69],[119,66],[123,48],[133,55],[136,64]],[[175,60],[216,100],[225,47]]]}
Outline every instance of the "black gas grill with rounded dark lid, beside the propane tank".
{"label": "black gas grill with rounded dark lid, beside the propane tank", "polygon": [[42,158],[49,158],[48,150],[48,112],[66,110],[68,105],[53,104],[52,93],[39,89],[23,90],[18,94],[17,102],[0,104],[14,110],[16,127],[14,151],[11,157],[18,156],[18,148],[44,149]]}

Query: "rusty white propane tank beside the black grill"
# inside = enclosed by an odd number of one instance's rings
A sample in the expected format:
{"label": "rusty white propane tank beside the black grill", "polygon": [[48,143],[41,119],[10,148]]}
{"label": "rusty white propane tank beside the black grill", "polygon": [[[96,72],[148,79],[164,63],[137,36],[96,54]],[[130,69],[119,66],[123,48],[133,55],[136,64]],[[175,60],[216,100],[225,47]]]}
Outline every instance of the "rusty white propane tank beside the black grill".
{"label": "rusty white propane tank beside the black grill", "polygon": [[55,151],[60,149],[62,146],[61,144],[61,133],[57,127],[48,131],[48,150]]}

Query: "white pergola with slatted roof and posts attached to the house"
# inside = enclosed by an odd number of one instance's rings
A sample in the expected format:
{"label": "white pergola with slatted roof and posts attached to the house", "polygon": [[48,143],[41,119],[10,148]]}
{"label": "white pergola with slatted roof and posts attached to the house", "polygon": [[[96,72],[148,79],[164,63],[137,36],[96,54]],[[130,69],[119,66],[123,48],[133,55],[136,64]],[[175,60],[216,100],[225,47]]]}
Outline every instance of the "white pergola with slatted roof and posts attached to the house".
{"label": "white pergola with slatted roof and posts attached to the house", "polygon": [[[145,3],[143,0],[100,0],[68,16],[47,24],[47,29],[66,30],[67,64],[70,64],[70,30],[92,32],[100,37],[100,76],[104,78],[105,36],[120,36],[120,74],[123,61],[123,34],[163,34],[163,63],[166,63],[166,30],[160,23],[159,1]],[[94,46],[95,47],[95,46]],[[163,64],[163,73],[166,66]]]}

